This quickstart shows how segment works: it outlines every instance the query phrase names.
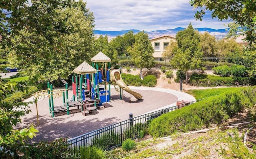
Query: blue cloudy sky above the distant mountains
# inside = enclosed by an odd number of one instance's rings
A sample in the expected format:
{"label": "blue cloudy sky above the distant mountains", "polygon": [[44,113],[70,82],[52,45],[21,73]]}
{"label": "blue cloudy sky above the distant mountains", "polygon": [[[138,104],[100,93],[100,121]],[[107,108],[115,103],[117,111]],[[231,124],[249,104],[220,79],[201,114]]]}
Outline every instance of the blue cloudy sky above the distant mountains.
{"label": "blue cloudy sky above the distant mountains", "polygon": [[96,30],[166,30],[186,28],[227,28],[230,21],[212,19],[210,12],[195,20],[190,0],[84,0],[94,13]]}

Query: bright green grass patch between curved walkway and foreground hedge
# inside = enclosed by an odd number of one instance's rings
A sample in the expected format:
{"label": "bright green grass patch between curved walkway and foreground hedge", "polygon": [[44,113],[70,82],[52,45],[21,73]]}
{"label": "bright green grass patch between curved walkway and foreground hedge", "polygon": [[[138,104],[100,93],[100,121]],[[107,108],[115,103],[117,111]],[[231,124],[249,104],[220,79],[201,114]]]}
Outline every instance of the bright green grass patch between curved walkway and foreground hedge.
{"label": "bright green grass patch between curved walkway and foreground hedge", "polygon": [[190,89],[190,90],[187,90],[186,93],[194,96],[196,100],[198,100],[198,99],[219,95],[221,93],[226,93],[228,91],[234,91],[237,89],[240,89],[240,87],[227,87],[227,88],[214,88],[214,89]]}

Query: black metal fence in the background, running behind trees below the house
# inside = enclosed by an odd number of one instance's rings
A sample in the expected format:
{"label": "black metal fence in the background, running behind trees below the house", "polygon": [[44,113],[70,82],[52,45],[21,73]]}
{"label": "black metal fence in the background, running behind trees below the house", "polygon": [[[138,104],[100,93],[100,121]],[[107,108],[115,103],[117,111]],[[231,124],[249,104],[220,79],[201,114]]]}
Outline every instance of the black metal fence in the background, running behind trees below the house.
{"label": "black metal fence in the background, running behind trees below the house", "polygon": [[[155,57],[154,61],[156,62],[156,65],[151,69],[152,70],[160,69],[162,66],[166,66],[170,69],[176,69],[172,67],[172,65],[170,64],[171,60],[172,58],[168,58],[168,57],[159,57],[159,58]],[[223,65],[232,66],[234,64],[246,65],[244,64],[244,60],[241,58],[204,57],[202,58],[202,61],[203,61],[202,66],[206,70],[212,70],[212,68],[215,66],[223,66]],[[134,61],[132,60],[132,57],[126,57],[126,56],[118,57],[118,65],[121,68],[125,68],[125,67],[130,67],[131,69],[138,68],[134,63]]]}

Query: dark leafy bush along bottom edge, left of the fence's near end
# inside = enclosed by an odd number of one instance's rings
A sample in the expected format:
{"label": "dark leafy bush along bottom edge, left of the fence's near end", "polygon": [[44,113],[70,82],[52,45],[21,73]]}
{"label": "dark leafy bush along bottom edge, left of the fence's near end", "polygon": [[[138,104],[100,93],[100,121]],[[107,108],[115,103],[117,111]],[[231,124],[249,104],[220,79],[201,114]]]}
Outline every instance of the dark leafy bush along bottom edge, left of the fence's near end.
{"label": "dark leafy bush along bottom edge, left of the fence's near end", "polygon": [[67,139],[57,139],[55,141],[39,141],[27,147],[22,146],[21,152],[24,153],[22,159],[60,159],[63,154],[69,153]]}

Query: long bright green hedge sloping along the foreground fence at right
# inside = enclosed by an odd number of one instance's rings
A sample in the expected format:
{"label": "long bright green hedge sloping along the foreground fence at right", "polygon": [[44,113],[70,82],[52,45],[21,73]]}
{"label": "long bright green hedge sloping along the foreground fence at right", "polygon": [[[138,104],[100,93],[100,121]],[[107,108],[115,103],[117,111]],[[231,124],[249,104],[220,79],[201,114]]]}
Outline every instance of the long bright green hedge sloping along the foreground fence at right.
{"label": "long bright green hedge sloping along the foreground fence at right", "polygon": [[210,127],[211,124],[221,124],[242,111],[245,106],[253,105],[247,99],[241,89],[203,99],[154,119],[148,126],[148,132],[153,137],[164,137],[176,132],[196,131],[203,126]]}

